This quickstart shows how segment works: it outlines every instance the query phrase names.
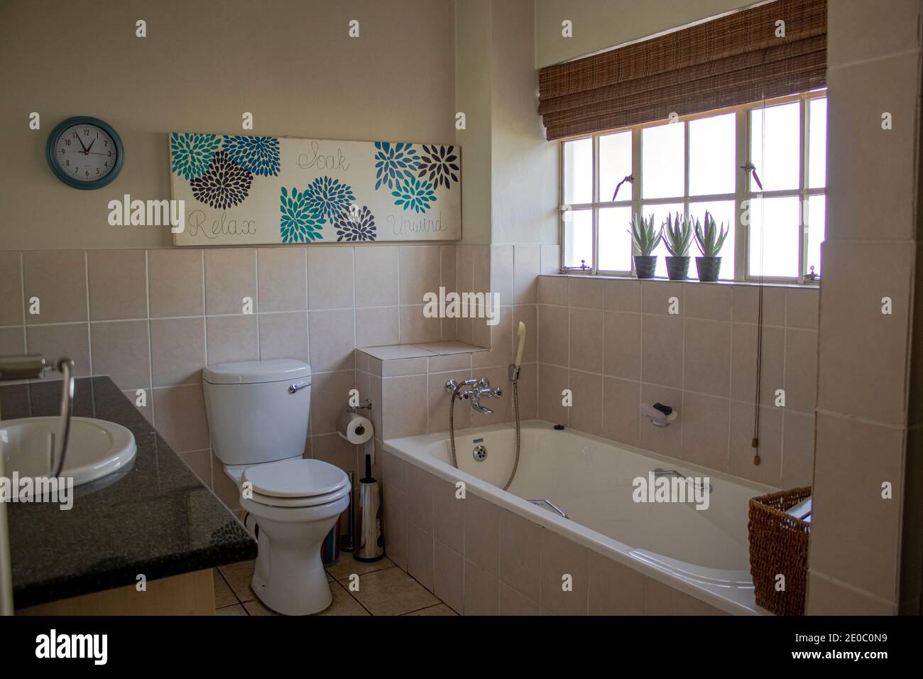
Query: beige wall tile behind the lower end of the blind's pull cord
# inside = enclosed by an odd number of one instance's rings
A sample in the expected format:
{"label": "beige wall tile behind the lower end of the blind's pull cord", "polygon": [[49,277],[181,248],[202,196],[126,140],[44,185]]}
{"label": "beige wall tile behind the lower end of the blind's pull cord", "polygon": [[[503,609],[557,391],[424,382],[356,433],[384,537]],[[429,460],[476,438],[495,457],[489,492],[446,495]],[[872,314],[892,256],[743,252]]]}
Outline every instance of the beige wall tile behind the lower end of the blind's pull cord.
{"label": "beige wall tile behind the lower end of the blind's pull cord", "polygon": [[[782,409],[760,406],[759,465],[753,464],[756,452],[753,449],[753,418],[753,404],[731,401],[731,451],[727,470],[734,476],[779,488],[782,485]],[[684,428],[684,439],[685,436]]]}

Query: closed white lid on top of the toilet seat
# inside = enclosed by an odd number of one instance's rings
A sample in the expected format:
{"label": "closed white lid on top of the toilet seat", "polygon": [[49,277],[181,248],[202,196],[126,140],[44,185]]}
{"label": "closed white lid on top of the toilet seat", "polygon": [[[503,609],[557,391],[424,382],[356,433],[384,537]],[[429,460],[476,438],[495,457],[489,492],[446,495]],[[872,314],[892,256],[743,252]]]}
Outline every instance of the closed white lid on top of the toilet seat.
{"label": "closed white lid on top of the toilet seat", "polygon": [[254,493],[288,498],[326,495],[349,483],[341,468],[302,457],[250,467],[241,480],[252,483]]}

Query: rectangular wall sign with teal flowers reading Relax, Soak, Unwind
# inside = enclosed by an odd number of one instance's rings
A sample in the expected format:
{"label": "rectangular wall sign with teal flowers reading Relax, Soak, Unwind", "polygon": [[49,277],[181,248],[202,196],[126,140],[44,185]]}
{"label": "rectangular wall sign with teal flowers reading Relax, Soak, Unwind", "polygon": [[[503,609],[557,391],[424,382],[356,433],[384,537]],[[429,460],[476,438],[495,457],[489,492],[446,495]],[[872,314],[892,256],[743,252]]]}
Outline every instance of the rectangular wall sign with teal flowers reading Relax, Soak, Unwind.
{"label": "rectangular wall sign with teal flowers reading Relax, Soak, Unwind", "polygon": [[458,240],[457,146],[174,132],[174,245]]}

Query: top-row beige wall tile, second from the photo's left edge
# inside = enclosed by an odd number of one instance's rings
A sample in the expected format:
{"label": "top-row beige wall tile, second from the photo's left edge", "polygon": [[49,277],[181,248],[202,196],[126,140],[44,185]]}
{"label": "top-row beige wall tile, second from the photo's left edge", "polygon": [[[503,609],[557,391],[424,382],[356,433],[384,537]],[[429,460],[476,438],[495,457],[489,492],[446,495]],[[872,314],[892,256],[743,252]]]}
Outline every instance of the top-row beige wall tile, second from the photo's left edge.
{"label": "top-row beige wall tile, second from the photo's left edge", "polygon": [[[22,253],[26,324],[87,320],[87,266],[83,250]],[[41,313],[30,313],[39,298]]]}

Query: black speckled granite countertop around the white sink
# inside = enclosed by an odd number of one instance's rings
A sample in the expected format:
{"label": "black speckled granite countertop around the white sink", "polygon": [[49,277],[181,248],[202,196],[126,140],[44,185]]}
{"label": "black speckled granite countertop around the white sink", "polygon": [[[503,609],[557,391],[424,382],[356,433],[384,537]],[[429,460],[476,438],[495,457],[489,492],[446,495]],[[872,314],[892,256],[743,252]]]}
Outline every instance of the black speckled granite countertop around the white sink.
{"label": "black speckled granite countertop around the white sink", "polygon": [[[0,386],[0,417],[57,415],[61,382]],[[108,377],[76,381],[74,416],[135,435],[126,467],[76,486],[74,505],[8,503],[18,608],[253,559],[257,544]],[[8,470],[7,470],[8,475]]]}

